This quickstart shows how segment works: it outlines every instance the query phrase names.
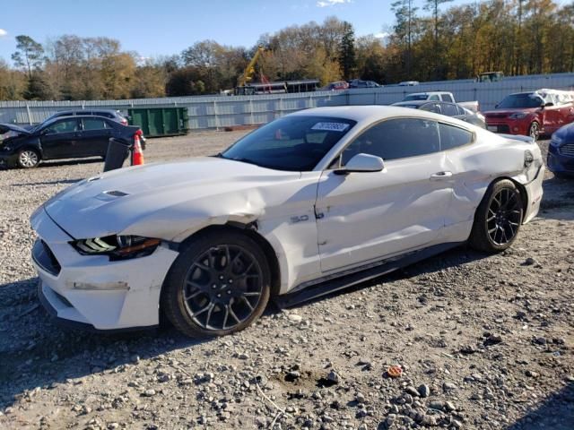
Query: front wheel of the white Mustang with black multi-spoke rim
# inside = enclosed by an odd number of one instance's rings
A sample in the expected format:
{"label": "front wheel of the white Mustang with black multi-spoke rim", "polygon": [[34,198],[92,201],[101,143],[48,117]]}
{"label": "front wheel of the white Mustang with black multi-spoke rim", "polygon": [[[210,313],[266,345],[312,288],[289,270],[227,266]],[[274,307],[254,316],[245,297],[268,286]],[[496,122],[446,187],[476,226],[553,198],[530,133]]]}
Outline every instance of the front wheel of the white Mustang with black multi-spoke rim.
{"label": "front wheel of the white Mustang with black multi-spoke rim", "polygon": [[174,262],[161,292],[161,308],[187,336],[241,331],[263,314],[271,271],[248,236],[217,231],[199,236]]}

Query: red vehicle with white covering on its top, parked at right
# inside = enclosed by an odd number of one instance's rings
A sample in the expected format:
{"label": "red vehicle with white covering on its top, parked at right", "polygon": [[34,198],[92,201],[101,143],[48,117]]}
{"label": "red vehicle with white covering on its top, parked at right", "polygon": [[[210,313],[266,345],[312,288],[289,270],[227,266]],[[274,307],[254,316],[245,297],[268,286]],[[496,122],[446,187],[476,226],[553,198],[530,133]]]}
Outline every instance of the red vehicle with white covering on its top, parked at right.
{"label": "red vehicle with white covering on its top, parked at right", "polygon": [[574,91],[535,90],[510,94],[484,112],[491,132],[538,139],[574,121]]}

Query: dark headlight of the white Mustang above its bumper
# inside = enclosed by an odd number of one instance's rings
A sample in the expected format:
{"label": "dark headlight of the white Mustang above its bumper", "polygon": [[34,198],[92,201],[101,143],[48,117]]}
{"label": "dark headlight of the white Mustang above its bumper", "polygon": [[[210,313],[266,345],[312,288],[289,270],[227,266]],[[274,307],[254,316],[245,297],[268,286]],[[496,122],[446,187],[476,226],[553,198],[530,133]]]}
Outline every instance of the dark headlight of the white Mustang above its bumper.
{"label": "dark headlight of the white Mustang above its bumper", "polygon": [[160,245],[160,239],[143,236],[105,236],[70,242],[83,255],[109,255],[110,261],[145,257]]}

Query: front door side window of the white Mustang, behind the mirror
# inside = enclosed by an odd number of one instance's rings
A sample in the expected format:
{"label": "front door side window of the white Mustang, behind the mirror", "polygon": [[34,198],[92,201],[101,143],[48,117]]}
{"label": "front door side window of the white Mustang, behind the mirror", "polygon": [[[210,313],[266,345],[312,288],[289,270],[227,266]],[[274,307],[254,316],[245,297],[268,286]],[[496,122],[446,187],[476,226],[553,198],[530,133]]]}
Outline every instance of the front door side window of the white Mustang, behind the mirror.
{"label": "front door side window of the white Mustang, behind the mirror", "polygon": [[381,159],[404,159],[438,152],[439,125],[434,121],[397,118],[373,125],[343,151],[343,166],[356,154],[376,155]]}

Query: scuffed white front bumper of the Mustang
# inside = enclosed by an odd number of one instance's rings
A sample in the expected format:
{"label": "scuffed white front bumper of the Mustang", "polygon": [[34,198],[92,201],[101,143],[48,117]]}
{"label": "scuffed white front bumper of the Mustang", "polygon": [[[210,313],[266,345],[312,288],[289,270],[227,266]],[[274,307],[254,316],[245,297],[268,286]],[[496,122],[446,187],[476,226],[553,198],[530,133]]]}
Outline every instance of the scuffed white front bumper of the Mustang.
{"label": "scuffed white front bumper of the Mustang", "polygon": [[109,262],[105,255],[78,254],[43,208],[30,221],[40,241],[32,251],[39,297],[50,314],[98,331],[158,325],[161,285],[176,251],[160,245],[146,257]]}

